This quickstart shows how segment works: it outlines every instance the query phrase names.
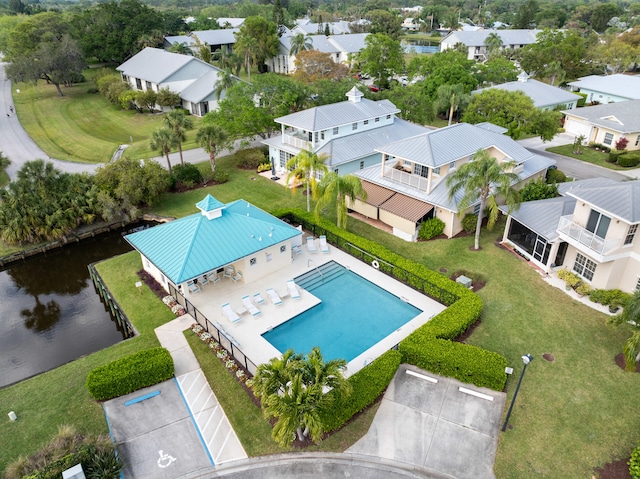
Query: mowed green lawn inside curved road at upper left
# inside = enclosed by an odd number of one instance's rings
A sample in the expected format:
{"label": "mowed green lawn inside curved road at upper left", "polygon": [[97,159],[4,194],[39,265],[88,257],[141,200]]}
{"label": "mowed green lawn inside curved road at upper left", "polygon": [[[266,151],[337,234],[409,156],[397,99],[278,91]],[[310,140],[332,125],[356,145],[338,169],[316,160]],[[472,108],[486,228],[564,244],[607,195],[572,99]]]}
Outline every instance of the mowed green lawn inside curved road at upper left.
{"label": "mowed green lawn inside curved road at upper left", "polygon": [[[87,76],[92,76],[87,71]],[[124,111],[100,93],[92,81],[63,88],[64,97],[53,85],[39,82],[19,83],[13,98],[20,122],[33,140],[51,158],[83,163],[104,163],[119,145],[132,147],[133,158],[159,156],[149,148],[151,133],[162,124],[162,115]],[[195,129],[202,120],[194,117]],[[183,148],[195,148],[195,129],[188,134]],[[177,151],[177,150],[176,150]]]}

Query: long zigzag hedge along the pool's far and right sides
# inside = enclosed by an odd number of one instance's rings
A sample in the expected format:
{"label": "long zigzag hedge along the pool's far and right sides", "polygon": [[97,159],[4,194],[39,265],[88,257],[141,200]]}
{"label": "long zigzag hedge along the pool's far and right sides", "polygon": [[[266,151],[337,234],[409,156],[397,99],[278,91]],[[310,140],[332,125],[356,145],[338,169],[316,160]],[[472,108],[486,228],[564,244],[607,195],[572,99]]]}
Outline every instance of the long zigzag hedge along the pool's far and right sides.
{"label": "long zigzag hedge along the pool's far and right sides", "polygon": [[[379,260],[381,271],[405,284],[417,287],[418,290],[448,306],[400,343],[399,350],[403,353],[403,362],[480,387],[498,391],[504,388],[507,381],[507,374],[504,371],[507,361],[503,356],[449,341],[460,336],[480,318],[482,300],[478,295],[446,276],[408,260],[373,241],[344,231],[324,219],[316,221],[311,213],[302,210],[283,210],[274,214],[300,223],[306,230],[325,234],[327,241],[342,249],[349,248],[346,243],[360,248]],[[387,263],[402,268],[409,275],[400,269],[392,268]],[[421,284],[423,280],[428,283]],[[434,351],[438,351],[437,355],[434,355]],[[436,356],[438,361],[434,359]]]}

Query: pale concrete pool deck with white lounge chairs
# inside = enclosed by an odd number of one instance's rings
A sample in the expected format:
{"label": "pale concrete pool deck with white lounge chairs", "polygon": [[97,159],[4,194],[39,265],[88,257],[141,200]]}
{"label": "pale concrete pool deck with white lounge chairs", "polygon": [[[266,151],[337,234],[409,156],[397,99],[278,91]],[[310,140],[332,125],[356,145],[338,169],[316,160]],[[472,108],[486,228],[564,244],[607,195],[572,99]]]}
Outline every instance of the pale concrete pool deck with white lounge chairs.
{"label": "pale concrete pool deck with white lounge chairs", "polygon": [[[303,243],[306,243],[306,239]],[[350,376],[362,369],[376,357],[391,349],[418,327],[445,309],[444,305],[390,278],[371,265],[363,263],[353,256],[340,251],[338,248],[329,245],[329,253],[322,253],[317,239],[316,246],[318,246],[318,252],[310,253],[306,246],[303,245],[301,248],[302,253],[293,255],[290,266],[250,284],[245,284],[242,281],[234,283],[230,279],[222,279],[217,284],[203,286],[200,292],[190,294],[188,299],[212,324],[216,322],[220,323],[226,333],[236,341],[240,350],[246,354],[255,365],[266,363],[271,358],[280,356],[281,354],[268,341],[262,338],[261,335],[263,333],[288,321],[303,311],[312,308],[320,302],[320,299],[302,288],[298,288],[300,291],[300,299],[292,299],[289,297],[286,284],[287,280],[296,278],[332,260],[351,269],[353,272],[423,311],[407,324],[398,328],[385,339],[349,362],[346,376]],[[266,294],[268,288],[273,288],[280,295],[282,305],[274,305],[271,302],[269,296]],[[242,297],[245,295],[253,297],[253,295],[258,292],[262,294],[265,301],[257,305],[261,314],[252,316],[245,310],[242,304]],[[354,300],[357,300],[357,298],[354,298]],[[227,302],[230,303],[233,310],[240,315],[240,321],[231,323],[226,316],[223,315],[221,306]]]}

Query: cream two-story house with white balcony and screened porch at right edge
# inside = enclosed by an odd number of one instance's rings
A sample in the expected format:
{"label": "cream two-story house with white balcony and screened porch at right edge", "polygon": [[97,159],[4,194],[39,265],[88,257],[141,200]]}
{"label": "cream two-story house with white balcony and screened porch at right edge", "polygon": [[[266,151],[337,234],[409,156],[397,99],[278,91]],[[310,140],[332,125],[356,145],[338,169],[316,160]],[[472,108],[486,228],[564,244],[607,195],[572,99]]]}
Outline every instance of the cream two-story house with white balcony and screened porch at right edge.
{"label": "cream two-story house with white balcony and screened porch at right edge", "polygon": [[523,203],[503,242],[550,272],[566,268],[592,288],[640,289],[640,181],[562,183],[561,197]]}

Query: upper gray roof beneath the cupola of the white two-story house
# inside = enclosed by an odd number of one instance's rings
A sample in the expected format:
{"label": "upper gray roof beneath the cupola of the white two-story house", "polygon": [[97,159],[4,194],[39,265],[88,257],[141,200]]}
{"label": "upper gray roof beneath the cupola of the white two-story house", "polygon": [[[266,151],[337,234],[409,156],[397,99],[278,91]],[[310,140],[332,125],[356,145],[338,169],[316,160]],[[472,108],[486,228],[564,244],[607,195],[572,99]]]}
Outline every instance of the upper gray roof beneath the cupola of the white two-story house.
{"label": "upper gray roof beneath the cupola of the white two-story house", "polygon": [[389,100],[372,101],[363,98],[358,102],[342,101],[316,106],[281,116],[274,121],[306,131],[320,131],[399,112],[400,110]]}

